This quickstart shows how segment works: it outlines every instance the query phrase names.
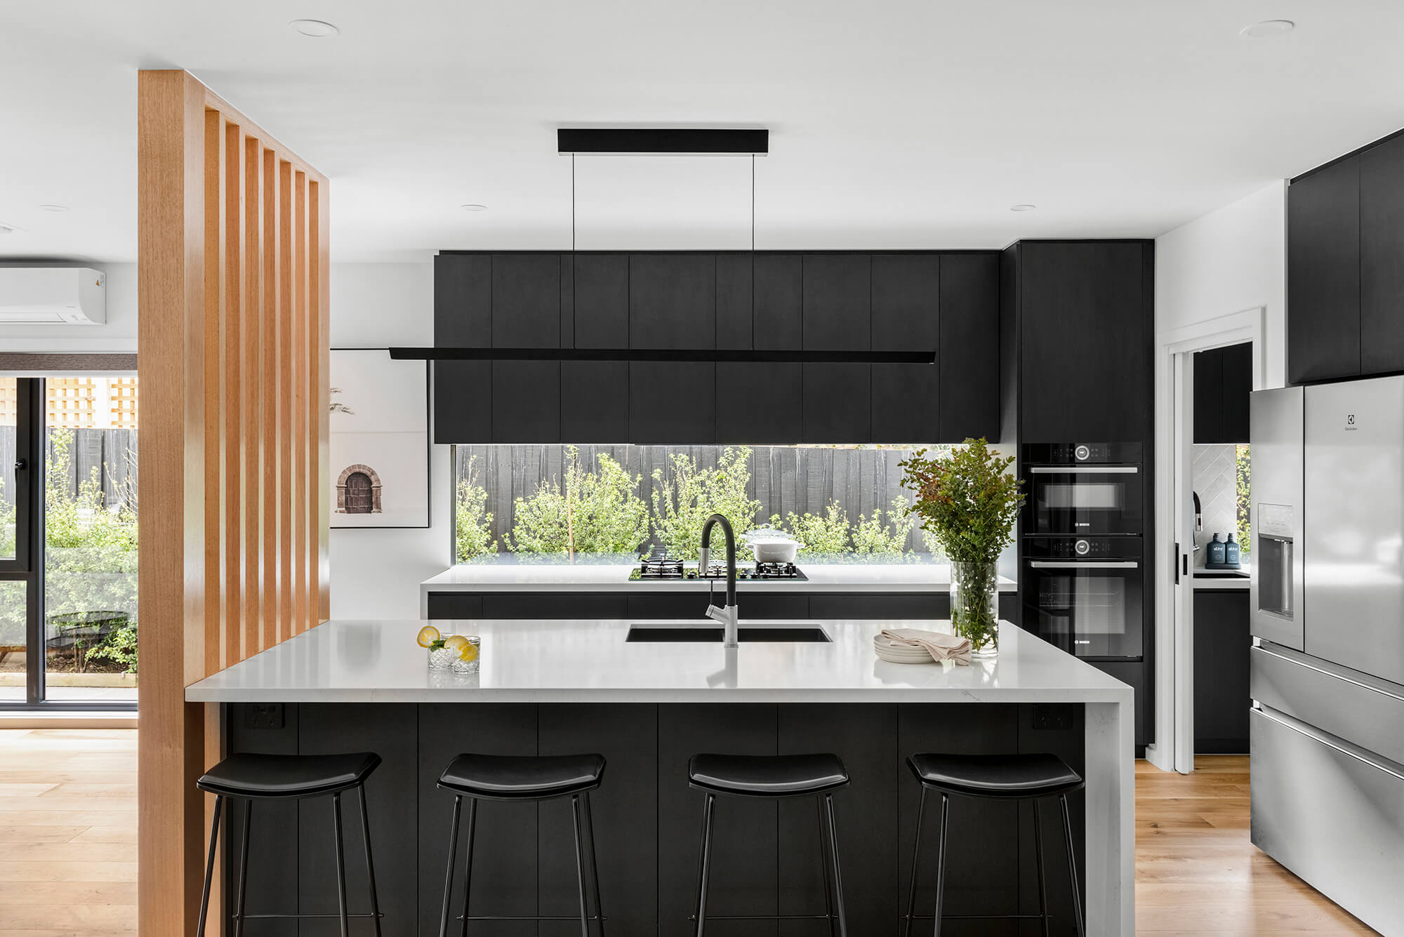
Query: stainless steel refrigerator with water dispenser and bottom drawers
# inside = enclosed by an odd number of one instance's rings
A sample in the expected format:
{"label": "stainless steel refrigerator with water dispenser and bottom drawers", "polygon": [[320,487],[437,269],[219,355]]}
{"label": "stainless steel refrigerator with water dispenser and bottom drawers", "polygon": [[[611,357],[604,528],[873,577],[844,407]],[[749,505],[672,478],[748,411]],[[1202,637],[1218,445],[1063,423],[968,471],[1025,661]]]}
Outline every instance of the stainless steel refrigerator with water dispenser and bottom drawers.
{"label": "stainless steel refrigerator with water dispenser and bottom drawers", "polygon": [[1252,842],[1404,934],[1404,377],[1251,419]]}

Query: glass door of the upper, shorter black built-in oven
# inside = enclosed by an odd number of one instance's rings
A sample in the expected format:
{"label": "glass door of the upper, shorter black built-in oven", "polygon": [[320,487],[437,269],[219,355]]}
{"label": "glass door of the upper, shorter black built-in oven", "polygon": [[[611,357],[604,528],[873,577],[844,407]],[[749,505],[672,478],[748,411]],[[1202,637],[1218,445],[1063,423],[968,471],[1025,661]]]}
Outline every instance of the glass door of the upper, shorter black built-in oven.
{"label": "glass door of the upper, shorter black built-in oven", "polygon": [[1139,534],[1141,477],[1134,466],[1035,466],[1028,533],[1052,536]]}

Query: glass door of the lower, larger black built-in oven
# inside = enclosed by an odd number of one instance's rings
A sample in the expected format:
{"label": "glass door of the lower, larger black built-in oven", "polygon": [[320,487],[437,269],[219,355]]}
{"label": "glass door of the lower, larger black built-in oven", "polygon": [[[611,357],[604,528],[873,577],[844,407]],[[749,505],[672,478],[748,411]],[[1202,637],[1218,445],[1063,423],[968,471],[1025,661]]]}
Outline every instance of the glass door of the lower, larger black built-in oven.
{"label": "glass door of the lower, larger black built-in oven", "polygon": [[1029,560],[1024,627],[1080,658],[1141,656],[1137,560]]}

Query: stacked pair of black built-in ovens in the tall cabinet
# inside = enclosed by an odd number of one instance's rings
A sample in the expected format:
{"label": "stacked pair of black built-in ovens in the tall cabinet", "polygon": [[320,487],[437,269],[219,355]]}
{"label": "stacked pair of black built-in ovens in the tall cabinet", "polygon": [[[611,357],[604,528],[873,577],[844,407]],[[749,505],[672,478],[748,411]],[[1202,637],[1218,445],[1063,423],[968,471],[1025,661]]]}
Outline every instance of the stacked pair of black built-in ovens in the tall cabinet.
{"label": "stacked pair of black built-in ovens in the tall cabinet", "polygon": [[1139,443],[1024,449],[1024,627],[1081,658],[1144,647],[1144,478]]}

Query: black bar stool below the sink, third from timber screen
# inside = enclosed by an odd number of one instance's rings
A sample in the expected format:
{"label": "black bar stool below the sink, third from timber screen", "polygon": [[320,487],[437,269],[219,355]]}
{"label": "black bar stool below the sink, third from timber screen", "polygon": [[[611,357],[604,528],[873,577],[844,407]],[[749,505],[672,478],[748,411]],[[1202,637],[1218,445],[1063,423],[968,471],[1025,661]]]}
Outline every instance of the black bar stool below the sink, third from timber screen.
{"label": "black bar stool below the sink, third from timber screen", "polygon": [[[702,814],[702,856],[698,863],[698,912],[695,937],[706,922],[708,871],[712,864],[712,814],[719,794],[729,797],[813,797],[819,807],[820,863],[824,872],[823,915],[713,915],[712,920],[827,920],[834,934],[848,937],[844,917],[844,879],[838,871],[838,832],[834,828],[834,791],[848,787],[848,770],[837,755],[694,755],[688,783],[706,793]],[[827,821],[827,823],[826,823]],[[827,850],[824,849],[827,846]],[[830,877],[833,863],[833,877]]]}

